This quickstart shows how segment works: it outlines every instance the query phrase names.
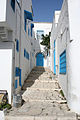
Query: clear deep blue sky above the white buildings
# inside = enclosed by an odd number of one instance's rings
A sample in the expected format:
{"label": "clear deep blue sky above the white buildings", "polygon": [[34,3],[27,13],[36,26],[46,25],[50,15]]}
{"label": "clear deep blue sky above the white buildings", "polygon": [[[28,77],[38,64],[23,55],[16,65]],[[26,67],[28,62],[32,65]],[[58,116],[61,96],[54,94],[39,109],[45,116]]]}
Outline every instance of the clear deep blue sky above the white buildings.
{"label": "clear deep blue sky above the white buildings", "polygon": [[63,0],[32,0],[34,22],[52,22],[55,10],[60,10]]}

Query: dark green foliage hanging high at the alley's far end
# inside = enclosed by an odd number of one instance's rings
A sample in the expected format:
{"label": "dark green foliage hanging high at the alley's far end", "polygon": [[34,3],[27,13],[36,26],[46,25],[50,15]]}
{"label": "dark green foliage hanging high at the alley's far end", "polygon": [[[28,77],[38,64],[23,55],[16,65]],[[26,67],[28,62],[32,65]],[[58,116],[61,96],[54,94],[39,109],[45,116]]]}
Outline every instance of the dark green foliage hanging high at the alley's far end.
{"label": "dark green foliage hanging high at the alley's far end", "polygon": [[43,41],[40,44],[44,45],[47,48],[47,50],[50,49],[50,33],[49,35],[42,35],[42,40]]}

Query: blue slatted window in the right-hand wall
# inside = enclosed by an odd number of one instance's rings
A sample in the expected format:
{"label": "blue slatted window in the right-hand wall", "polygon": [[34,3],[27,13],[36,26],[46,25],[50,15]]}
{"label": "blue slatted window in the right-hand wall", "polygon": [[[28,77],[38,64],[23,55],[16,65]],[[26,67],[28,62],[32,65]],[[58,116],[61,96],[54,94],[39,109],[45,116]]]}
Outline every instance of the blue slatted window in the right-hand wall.
{"label": "blue slatted window in the right-hand wall", "polygon": [[60,55],[60,74],[66,74],[66,50]]}

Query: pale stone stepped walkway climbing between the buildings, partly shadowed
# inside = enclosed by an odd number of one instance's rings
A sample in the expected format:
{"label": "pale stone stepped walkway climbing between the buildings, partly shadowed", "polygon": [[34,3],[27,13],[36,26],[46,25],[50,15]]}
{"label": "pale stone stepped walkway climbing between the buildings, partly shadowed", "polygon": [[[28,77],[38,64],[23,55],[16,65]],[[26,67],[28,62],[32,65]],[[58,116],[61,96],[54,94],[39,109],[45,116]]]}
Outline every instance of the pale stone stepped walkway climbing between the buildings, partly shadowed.
{"label": "pale stone stepped walkway climbing between the buildings, partly shadowed", "polygon": [[12,108],[6,120],[77,120],[71,112],[53,73],[47,68],[34,68],[24,83],[20,108]]}

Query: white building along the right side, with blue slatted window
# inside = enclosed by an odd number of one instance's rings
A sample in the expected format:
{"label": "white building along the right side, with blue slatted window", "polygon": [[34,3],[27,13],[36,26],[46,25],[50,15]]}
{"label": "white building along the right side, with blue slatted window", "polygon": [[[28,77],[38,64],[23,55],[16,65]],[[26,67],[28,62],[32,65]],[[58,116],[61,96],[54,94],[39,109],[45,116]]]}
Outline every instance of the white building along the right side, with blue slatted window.
{"label": "white building along the right side, with blue slatted window", "polygon": [[69,108],[77,113],[80,113],[79,11],[80,0],[64,0],[57,27],[54,19],[51,33],[51,70],[58,75]]}

